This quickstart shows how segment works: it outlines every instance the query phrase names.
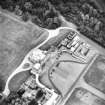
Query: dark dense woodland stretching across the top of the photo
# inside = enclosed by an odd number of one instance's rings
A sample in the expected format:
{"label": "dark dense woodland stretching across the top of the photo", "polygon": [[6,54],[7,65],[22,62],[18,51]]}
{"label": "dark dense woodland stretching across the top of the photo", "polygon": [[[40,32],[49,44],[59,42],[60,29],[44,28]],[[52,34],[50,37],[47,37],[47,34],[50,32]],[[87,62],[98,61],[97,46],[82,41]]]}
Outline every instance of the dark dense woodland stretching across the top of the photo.
{"label": "dark dense woodland stretching across the top of the photo", "polygon": [[23,21],[47,29],[61,26],[60,13],[83,35],[105,47],[105,12],[91,0],[0,0],[0,5]]}

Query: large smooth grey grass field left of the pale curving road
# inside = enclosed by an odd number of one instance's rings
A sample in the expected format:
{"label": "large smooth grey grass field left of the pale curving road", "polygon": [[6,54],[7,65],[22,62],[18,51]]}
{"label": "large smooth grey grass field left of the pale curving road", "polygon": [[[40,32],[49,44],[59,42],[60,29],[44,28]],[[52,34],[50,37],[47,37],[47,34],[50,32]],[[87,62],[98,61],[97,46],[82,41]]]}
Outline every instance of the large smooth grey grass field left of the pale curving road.
{"label": "large smooth grey grass field left of the pale curving road", "polygon": [[[45,40],[44,30],[0,14],[0,77],[6,82],[25,55]],[[1,86],[2,88],[2,86]]]}

